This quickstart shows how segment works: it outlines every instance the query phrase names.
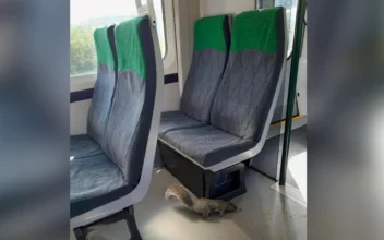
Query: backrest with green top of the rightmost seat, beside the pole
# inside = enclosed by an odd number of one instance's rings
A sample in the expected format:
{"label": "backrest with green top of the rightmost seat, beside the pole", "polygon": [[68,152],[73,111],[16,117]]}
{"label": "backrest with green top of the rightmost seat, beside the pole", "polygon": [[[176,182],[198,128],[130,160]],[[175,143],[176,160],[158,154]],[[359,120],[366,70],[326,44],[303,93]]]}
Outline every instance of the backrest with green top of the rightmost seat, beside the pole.
{"label": "backrest with green top of the rightmost seat, beside the pole", "polygon": [[228,64],[211,124],[239,137],[261,140],[285,71],[285,26],[283,8],[243,12],[235,17]]}

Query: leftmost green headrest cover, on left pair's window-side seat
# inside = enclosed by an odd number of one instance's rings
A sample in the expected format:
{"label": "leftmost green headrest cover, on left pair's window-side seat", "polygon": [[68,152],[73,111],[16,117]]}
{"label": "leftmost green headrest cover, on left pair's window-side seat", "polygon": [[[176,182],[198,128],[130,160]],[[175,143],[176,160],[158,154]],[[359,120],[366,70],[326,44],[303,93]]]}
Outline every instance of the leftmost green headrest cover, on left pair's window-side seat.
{"label": "leftmost green headrest cover, on left pair's window-side seat", "polygon": [[107,64],[113,69],[115,67],[113,55],[112,55],[112,49],[109,45],[107,31],[108,31],[108,26],[97,28],[94,32],[97,63]]}

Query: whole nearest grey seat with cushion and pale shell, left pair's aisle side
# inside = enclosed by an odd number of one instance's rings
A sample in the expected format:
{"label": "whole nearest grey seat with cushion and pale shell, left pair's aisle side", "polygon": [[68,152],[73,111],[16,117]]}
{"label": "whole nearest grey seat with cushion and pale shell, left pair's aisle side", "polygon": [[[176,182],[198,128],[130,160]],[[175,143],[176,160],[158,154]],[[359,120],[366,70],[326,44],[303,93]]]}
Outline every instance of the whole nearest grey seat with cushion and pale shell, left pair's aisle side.
{"label": "whole nearest grey seat with cushion and pale shell, left pair's aisle side", "polygon": [[[144,197],[149,187],[160,115],[159,93],[163,92],[159,83],[164,81],[154,32],[148,16],[116,26],[119,64],[110,109],[104,111],[105,103],[95,107],[94,112],[101,112],[94,115],[97,120],[92,124],[100,127],[100,134],[93,136],[100,143],[103,154],[70,163],[73,228],[131,207]],[[107,36],[106,28],[96,29],[95,39],[99,36],[97,33]],[[108,112],[106,121],[101,121],[105,112]]]}

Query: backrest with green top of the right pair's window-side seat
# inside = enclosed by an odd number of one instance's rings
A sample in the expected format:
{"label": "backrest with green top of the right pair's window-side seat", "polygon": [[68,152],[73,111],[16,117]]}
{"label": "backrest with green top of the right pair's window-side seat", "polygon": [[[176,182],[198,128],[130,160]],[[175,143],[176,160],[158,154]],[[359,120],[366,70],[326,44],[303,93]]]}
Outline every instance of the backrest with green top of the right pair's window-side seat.
{"label": "backrest with green top of the right pair's window-side seat", "polygon": [[196,21],[192,63],[180,103],[183,113],[208,122],[213,99],[227,64],[229,38],[228,15]]}

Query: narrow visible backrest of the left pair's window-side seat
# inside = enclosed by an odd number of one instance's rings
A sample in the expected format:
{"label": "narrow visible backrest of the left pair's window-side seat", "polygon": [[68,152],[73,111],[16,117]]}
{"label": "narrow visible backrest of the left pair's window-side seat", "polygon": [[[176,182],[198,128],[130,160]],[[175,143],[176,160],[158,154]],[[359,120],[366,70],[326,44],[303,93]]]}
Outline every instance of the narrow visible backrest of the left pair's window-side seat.
{"label": "narrow visible backrest of the left pair's window-side seat", "polygon": [[105,129],[108,121],[116,83],[115,26],[97,28],[94,32],[97,53],[97,80],[88,111],[87,133],[100,145],[105,144]]}

